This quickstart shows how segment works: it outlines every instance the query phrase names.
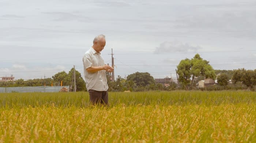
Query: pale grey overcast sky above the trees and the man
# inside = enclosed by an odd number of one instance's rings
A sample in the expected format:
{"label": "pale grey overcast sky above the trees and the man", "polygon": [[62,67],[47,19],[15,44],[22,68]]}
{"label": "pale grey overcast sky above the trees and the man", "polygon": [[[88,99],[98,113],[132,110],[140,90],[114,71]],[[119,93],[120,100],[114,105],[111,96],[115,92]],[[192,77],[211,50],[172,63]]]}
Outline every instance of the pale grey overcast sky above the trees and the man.
{"label": "pale grey overcast sky above the trees and the man", "polygon": [[255,0],[0,0],[0,77],[51,78],[74,65],[83,77],[99,34],[115,78],[176,78],[196,53],[214,69],[255,69],[255,23]]}

